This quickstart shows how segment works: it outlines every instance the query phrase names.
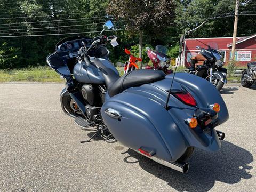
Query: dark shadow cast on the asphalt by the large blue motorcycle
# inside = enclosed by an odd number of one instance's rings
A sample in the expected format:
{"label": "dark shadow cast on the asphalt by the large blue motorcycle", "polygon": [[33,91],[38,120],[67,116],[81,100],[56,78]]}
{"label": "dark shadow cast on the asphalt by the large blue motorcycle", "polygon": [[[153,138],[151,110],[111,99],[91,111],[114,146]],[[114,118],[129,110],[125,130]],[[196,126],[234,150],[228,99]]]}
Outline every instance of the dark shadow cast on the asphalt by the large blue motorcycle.
{"label": "dark shadow cast on the asphalt by the large blue motorcycle", "polygon": [[[250,170],[253,168],[247,164],[253,162],[252,154],[228,141],[222,141],[222,148],[216,153],[208,153],[203,150],[194,150],[188,159],[189,171],[182,174],[169,169],[129,149],[124,158],[126,163],[139,163],[145,171],[155,175],[169,183],[178,191],[209,191],[215,181],[227,184],[238,183],[242,178],[250,179]],[[138,161],[129,162],[129,157]]]}

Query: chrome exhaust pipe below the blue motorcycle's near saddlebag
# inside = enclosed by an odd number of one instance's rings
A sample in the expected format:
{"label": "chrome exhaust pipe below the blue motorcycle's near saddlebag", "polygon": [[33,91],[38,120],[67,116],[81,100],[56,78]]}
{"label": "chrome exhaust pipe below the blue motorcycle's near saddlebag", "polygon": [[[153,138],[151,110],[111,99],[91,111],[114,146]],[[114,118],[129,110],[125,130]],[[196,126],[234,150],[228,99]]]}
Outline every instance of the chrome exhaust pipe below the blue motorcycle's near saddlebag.
{"label": "chrome exhaust pipe below the blue motorcycle's near saddlebag", "polygon": [[159,159],[159,158],[154,157],[154,156],[149,157],[149,156],[147,156],[145,154],[140,153],[140,151],[138,151],[138,150],[134,150],[134,151],[136,151],[137,153],[139,153],[139,154],[141,154],[141,155],[143,155],[145,157],[148,157],[148,158],[152,159],[153,161],[155,161],[155,162],[157,162],[157,163],[159,163],[161,165],[167,166],[167,167],[169,167],[171,169],[174,169],[176,171],[179,171],[181,173],[185,174],[189,170],[189,164],[188,163],[178,162],[178,161],[177,162],[167,162],[167,161],[164,161],[164,160]]}

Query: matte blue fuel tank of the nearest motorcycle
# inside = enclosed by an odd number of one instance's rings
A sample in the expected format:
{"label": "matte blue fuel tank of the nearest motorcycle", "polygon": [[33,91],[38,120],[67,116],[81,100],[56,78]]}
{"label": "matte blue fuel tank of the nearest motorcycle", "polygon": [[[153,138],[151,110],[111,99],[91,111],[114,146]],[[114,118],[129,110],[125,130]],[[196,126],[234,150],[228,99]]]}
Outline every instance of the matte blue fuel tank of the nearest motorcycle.
{"label": "matte blue fuel tank of the nearest motorcycle", "polygon": [[105,84],[105,78],[99,68],[107,67],[119,74],[117,69],[107,59],[90,57],[90,62],[92,63],[90,66],[85,65],[85,62],[76,63],[73,74],[77,81],[81,83]]}

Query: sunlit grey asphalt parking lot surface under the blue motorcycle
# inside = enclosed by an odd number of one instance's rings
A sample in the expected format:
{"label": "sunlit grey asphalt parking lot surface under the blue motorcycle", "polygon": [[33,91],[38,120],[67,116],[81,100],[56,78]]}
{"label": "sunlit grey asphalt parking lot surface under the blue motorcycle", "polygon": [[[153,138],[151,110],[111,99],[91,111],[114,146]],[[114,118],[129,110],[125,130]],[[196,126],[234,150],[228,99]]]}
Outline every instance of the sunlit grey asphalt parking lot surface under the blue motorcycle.
{"label": "sunlit grey asphalt parking lot surface under the blue motorcycle", "polygon": [[255,191],[256,87],[221,91],[229,120],[217,153],[196,149],[187,174],[95,140],[60,107],[63,84],[0,84],[0,191]]}

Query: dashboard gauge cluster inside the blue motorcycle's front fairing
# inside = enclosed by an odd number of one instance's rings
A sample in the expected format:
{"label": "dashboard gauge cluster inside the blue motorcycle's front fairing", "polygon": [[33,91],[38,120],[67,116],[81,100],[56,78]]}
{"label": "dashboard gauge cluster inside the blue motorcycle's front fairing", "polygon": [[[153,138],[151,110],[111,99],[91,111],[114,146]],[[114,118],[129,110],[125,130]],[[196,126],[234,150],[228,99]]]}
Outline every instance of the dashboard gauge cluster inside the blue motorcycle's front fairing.
{"label": "dashboard gauge cluster inside the blue motorcycle's front fairing", "polygon": [[82,41],[87,47],[91,45],[91,39],[76,39],[72,41],[67,41],[62,43],[57,48],[57,53],[59,55],[69,55],[70,58],[77,57],[77,51],[83,46]]}

